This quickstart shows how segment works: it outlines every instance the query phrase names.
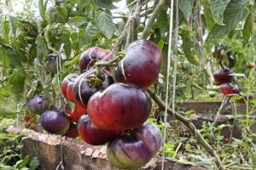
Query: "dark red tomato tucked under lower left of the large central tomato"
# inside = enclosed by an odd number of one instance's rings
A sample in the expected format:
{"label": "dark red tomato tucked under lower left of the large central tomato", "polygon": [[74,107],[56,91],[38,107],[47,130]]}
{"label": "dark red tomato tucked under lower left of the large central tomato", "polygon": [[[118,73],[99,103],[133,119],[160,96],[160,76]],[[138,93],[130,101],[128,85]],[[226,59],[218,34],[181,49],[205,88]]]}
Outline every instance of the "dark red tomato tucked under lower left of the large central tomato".
{"label": "dark red tomato tucked under lower left of the large central tomato", "polygon": [[87,115],[81,116],[78,122],[79,136],[87,144],[100,145],[106,144],[108,141],[119,136],[121,130],[102,130],[90,122],[90,118]]}

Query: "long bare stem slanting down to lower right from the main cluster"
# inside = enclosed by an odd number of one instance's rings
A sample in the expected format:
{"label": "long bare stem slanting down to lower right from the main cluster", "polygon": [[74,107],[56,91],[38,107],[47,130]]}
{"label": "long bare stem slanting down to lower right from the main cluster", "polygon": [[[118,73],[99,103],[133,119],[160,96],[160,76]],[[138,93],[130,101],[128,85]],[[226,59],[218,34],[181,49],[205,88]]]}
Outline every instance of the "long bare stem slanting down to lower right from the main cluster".
{"label": "long bare stem slanting down to lower right from the main cluster", "polygon": [[[167,107],[165,105],[165,102],[160,99],[160,97],[152,90],[148,89],[147,92],[151,96],[151,98],[154,99],[154,102],[159,105],[160,109],[164,111]],[[202,137],[201,133],[196,129],[195,125],[192,122],[189,122],[188,118],[180,115],[177,111],[173,112],[172,109],[169,107],[167,107],[167,113],[175,116],[175,118],[177,118],[177,120],[179,120],[180,122],[183,122],[183,124],[188,127],[192,133],[194,133],[195,139],[197,139],[197,141],[204,147],[204,149],[207,150],[208,154],[215,157],[218,169],[224,170],[224,166],[222,164],[222,161],[218,157],[218,154],[215,152],[215,150],[212,149],[211,145],[208,144],[207,141]]]}

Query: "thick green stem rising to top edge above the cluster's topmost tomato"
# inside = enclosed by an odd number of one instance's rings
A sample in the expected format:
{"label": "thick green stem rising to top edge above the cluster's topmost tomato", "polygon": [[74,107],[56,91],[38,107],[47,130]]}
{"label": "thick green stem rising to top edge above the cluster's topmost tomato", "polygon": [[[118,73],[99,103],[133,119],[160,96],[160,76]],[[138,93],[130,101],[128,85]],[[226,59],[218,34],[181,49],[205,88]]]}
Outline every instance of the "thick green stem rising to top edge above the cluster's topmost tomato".
{"label": "thick green stem rising to top edge above the cluster's topmost tomato", "polygon": [[145,28],[143,30],[141,39],[146,39],[148,37],[151,27],[154,24],[154,20],[155,20],[156,16],[160,13],[160,9],[164,6],[164,4],[165,4],[165,0],[160,0],[160,2],[157,4],[156,8],[154,8],[154,12],[151,15],[151,17],[149,18],[147,26],[145,26]]}

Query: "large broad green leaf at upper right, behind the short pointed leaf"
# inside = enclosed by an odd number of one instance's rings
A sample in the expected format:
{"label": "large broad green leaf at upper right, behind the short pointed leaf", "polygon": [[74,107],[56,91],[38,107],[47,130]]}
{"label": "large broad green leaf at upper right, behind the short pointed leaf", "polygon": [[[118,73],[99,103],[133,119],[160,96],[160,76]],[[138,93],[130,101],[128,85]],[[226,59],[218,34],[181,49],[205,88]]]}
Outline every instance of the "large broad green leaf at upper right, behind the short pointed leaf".
{"label": "large broad green leaf at upper right, behind the short pointed leaf", "polygon": [[241,20],[247,16],[247,4],[250,0],[232,0],[224,11],[224,26],[215,24],[209,32],[207,42],[212,42],[218,38],[224,37],[233,30]]}

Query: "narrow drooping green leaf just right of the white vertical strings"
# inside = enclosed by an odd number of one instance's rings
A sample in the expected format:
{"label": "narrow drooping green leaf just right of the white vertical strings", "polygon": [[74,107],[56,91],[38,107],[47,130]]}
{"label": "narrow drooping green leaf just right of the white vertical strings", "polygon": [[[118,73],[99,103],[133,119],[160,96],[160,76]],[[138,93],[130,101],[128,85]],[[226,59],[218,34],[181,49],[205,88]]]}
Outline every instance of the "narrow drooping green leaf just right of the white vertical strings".
{"label": "narrow drooping green leaf just right of the white vertical strings", "polygon": [[195,57],[195,45],[192,36],[192,32],[189,30],[183,29],[181,32],[181,37],[183,40],[183,52],[190,63],[193,65],[198,65],[199,61]]}

